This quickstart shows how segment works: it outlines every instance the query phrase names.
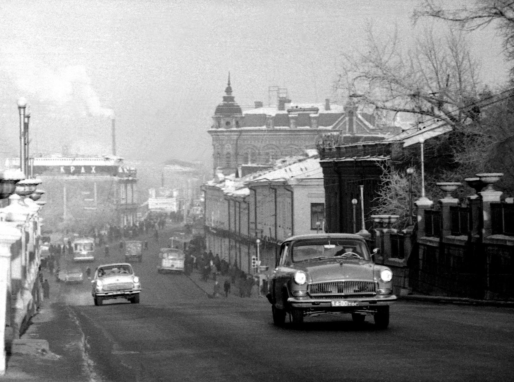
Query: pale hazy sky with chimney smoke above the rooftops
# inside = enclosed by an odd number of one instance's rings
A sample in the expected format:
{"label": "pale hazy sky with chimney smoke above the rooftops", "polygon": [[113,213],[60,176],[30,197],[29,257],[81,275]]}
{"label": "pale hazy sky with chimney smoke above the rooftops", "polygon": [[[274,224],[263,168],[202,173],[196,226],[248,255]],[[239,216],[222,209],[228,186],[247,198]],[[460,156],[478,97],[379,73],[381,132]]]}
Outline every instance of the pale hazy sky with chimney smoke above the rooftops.
{"label": "pale hazy sky with chimney smoke above the rooftops", "polygon": [[[446,2],[450,3],[450,2]],[[468,2],[471,3],[471,2]],[[334,101],[342,51],[362,49],[367,22],[409,42],[415,0],[2,0],[2,155],[19,150],[16,100],[31,107],[31,152],[127,159],[212,158],[207,130],[231,73],[243,107],[268,87],[293,102]],[[454,2],[455,4],[455,2]],[[506,78],[493,30],[472,36],[483,79]]]}

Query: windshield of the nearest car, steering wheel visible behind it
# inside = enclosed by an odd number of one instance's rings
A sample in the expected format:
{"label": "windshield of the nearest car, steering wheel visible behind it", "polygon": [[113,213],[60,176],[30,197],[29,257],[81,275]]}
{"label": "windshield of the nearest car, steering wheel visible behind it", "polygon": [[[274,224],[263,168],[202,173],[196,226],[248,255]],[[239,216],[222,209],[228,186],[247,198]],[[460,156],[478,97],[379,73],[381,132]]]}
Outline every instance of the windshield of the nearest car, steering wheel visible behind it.
{"label": "windshield of the nearest car, steering wheel visible behind it", "polygon": [[291,258],[294,263],[317,258],[353,258],[370,260],[366,244],[355,239],[311,239],[293,243]]}

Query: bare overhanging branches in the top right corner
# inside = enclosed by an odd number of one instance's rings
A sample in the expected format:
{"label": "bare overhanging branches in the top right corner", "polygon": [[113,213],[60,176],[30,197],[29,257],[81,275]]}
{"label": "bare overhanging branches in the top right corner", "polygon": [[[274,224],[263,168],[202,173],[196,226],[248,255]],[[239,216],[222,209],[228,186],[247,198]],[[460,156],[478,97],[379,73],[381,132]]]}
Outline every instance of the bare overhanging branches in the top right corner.
{"label": "bare overhanging branches in the top right corner", "polygon": [[[414,12],[414,20],[430,16],[460,24],[466,31],[493,25],[503,38],[503,48],[509,61],[514,60],[514,2],[510,0],[476,0],[473,6],[450,9],[447,2],[425,0]],[[511,69],[514,77],[514,68]]]}

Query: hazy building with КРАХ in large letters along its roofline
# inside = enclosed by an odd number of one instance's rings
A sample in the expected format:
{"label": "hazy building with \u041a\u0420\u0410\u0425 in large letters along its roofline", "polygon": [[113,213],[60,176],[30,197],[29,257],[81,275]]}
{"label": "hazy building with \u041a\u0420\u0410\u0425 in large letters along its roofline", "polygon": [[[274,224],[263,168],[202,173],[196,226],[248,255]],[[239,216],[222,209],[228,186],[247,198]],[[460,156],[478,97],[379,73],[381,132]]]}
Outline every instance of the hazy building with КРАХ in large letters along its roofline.
{"label": "hazy building with \u041a\u0420\u0410\u0425 in large letters along its roofline", "polygon": [[[7,168],[19,159],[8,159]],[[137,220],[137,172],[119,157],[36,157],[30,170],[43,180],[44,230],[88,231]]]}

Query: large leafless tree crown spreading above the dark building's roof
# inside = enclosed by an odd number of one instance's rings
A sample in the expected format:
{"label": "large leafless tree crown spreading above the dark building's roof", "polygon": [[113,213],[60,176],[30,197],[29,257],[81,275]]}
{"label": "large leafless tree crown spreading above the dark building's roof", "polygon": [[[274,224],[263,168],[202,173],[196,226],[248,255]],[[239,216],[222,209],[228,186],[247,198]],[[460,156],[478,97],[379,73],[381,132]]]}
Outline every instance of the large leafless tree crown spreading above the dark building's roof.
{"label": "large leafless tree crown spreading above the dark building's roof", "polygon": [[427,29],[412,48],[396,33],[378,41],[370,27],[364,52],[343,53],[336,88],[359,104],[378,110],[444,120],[453,127],[477,117],[473,105],[484,87],[462,31],[449,29],[443,40]]}

